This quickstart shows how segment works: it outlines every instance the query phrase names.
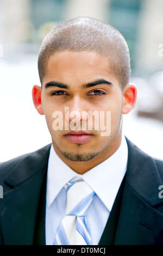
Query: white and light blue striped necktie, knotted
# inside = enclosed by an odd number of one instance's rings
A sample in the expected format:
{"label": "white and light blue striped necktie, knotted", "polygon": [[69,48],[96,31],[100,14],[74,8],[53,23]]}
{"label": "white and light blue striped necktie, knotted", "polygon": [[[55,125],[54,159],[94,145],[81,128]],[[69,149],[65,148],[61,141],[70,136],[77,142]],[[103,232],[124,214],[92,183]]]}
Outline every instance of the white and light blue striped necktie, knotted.
{"label": "white and light blue striped necktie, knotted", "polygon": [[83,179],[76,177],[66,184],[65,189],[66,212],[55,236],[54,245],[91,245],[86,212],[96,193]]}

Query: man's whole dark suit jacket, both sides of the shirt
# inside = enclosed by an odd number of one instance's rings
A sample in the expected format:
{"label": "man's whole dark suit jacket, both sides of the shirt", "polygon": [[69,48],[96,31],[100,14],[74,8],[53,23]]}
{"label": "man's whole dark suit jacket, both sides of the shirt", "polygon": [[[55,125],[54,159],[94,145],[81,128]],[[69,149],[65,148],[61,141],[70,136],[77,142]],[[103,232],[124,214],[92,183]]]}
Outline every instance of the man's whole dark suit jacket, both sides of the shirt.
{"label": "man's whole dark suit jacket, both sides of the shirt", "polygon": [[[114,239],[109,220],[99,245],[163,245],[163,162],[128,141],[128,167]],[[0,166],[0,245],[33,245],[36,213],[51,145]],[[111,214],[110,214],[111,216]],[[110,219],[110,217],[109,217]],[[111,221],[114,226],[114,221]]]}

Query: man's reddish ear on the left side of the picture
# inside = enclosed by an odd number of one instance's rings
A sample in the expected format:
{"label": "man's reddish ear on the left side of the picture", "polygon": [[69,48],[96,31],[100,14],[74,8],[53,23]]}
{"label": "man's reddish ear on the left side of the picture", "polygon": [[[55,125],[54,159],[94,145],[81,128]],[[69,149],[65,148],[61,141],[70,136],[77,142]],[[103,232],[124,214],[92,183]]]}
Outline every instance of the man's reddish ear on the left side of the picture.
{"label": "man's reddish ear on the left side of the picture", "polygon": [[34,86],[32,89],[33,103],[40,115],[43,115],[43,109],[41,104],[41,87]]}

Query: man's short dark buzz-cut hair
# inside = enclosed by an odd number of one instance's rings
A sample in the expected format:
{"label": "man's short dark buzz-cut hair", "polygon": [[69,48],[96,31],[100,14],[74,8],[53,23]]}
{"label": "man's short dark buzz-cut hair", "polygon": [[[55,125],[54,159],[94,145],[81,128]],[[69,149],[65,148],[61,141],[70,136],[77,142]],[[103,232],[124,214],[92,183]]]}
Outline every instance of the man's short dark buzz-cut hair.
{"label": "man's short dark buzz-cut hair", "polygon": [[77,17],[61,23],[47,34],[39,51],[40,82],[47,72],[49,57],[55,52],[97,52],[109,59],[112,74],[121,88],[129,83],[130,56],[122,34],[108,23],[91,17]]}

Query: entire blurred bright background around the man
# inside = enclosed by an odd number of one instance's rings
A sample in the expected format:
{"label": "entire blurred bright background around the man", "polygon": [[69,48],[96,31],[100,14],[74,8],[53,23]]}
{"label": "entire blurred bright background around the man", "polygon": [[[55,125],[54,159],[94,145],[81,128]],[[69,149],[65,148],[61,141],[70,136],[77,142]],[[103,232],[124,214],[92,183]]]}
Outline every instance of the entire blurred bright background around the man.
{"label": "entire blurred bright background around the man", "polygon": [[32,101],[32,87],[40,85],[37,55],[54,26],[77,16],[108,22],[126,39],[138,97],[123,131],[163,159],[162,0],[0,0],[0,162],[51,143]]}

